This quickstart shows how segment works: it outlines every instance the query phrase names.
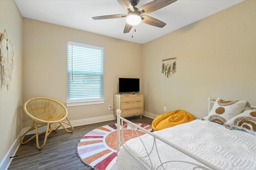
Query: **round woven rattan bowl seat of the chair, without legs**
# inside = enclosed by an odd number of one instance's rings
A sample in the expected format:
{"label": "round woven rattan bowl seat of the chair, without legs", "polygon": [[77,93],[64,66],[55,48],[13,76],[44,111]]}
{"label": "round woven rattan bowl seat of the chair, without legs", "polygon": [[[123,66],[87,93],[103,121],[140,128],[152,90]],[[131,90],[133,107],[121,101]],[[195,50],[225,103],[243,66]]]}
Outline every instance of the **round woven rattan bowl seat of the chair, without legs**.
{"label": "round woven rattan bowl seat of the chair, without legs", "polygon": [[65,106],[50,98],[33,98],[23,106],[26,114],[35,122],[55,123],[62,121],[68,115]]}

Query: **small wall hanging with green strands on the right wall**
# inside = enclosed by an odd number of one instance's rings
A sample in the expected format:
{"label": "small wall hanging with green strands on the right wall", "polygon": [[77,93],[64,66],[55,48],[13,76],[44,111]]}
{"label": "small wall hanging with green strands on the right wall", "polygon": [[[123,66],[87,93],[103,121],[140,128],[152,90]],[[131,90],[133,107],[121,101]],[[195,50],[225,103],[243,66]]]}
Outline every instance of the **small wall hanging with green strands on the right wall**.
{"label": "small wall hanging with green strands on the right wall", "polygon": [[162,73],[167,78],[171,77],[176,72],[176,59],[177,59],[177,57],[172,57],[172,58],[162,60],[162,62],[163,62],[162,63]]}

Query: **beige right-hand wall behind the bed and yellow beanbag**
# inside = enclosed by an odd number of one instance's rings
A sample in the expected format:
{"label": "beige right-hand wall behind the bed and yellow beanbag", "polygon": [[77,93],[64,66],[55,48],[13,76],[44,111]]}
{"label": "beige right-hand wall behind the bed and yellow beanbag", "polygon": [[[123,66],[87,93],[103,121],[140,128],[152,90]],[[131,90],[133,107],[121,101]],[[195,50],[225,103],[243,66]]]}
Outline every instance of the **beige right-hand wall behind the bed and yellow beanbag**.
{"label": "beige right-hand wall behind the bed and yellow beanbag", "polygon": [[[256,106],[255,9],[248,0],[144,44],[145,111],[159,115],[166,106],[202,117],[208,97]],[[169,50],[177,72],[166,78],[162,59]]]}

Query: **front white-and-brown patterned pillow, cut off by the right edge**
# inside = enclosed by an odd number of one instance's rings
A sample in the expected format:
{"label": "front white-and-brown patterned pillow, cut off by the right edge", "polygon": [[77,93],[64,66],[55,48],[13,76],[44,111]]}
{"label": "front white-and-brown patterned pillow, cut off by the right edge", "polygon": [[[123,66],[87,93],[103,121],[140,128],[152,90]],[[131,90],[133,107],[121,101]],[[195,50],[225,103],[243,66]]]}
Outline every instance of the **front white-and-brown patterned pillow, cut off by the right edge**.
{"label": "front white-and-brown patterned pillow, cut off by the right edge", "polygon": [[225,127],[227,126],[232,129],[240,129],[256,135],[256,110],[249,109],[232,117],[225,123]]}

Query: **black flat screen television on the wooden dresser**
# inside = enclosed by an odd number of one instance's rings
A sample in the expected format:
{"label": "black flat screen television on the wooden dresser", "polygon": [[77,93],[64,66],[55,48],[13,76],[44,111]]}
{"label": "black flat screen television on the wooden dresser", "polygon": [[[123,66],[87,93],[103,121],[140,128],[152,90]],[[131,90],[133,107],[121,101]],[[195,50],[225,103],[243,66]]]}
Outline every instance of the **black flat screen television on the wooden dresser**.
{"label": "black flat screen television on the wooden dresser", "polygon": [[119,78],[119,93],[140,92],[139,78]]}

